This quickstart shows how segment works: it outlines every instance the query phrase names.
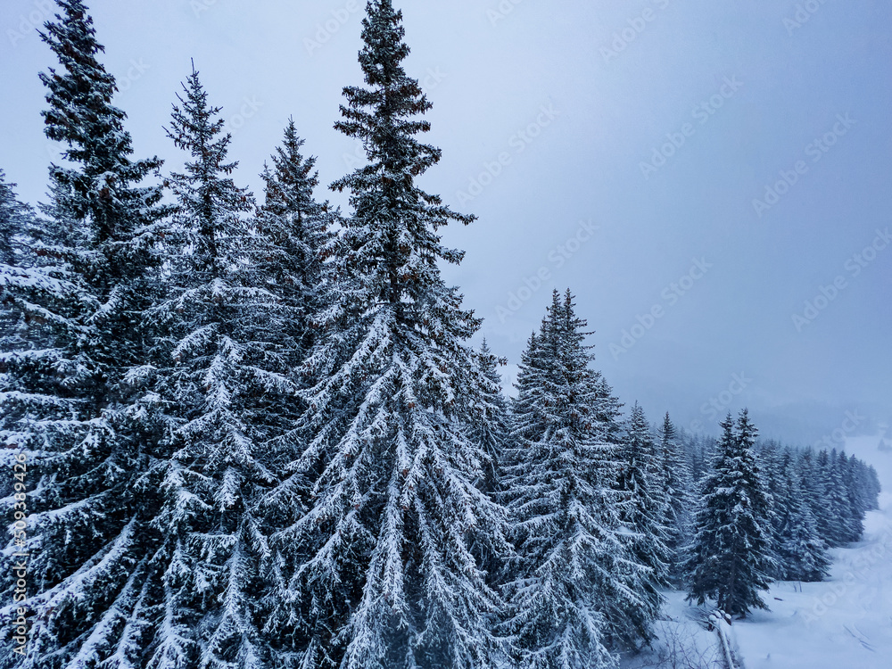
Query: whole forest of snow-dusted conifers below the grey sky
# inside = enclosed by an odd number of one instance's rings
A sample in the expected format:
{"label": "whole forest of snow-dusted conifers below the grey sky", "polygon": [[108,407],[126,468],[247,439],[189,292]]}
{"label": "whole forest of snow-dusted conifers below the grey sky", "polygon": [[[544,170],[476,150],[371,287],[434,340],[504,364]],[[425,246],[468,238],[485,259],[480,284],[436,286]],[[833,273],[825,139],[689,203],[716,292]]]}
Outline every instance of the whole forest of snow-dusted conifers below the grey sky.
{"label": "whole forest of snow-dusted conifers below the grey sky", "polygon": [[207,63],[137,143],[91,9],[52,4],[45,197],[0,164],[0,667],[799,666],[747,631],[848,587],[873,460],[752,408],[646,414],[559,277],[504,378],[396,0],[358,4],[355,76],[312,102],[361,160],[320,176],[292,117],[256,194]]}

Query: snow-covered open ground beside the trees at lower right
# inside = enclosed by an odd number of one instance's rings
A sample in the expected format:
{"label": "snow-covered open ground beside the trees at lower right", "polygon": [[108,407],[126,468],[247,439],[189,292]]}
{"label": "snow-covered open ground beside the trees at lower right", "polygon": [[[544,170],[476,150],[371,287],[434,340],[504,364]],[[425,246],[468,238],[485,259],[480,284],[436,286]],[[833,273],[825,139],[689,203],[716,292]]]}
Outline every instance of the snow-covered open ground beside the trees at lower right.
{"label": "snow-covered open ground beside the trees at lower right", "polygon": [[[889,434],[892,436],[892,434]],[[890,441],[889,436],[887,442]],[[877,448],[880,437],[847,440],[847,453],[876,467],[883,492],[880,510],[865,519],[863,541],[831,551],[830,578],[820,583],[777,582],[766,594],[771,611],[756,611],[733,624],[739,659],[746,669],[889,669],[892,667],[892,453]],[[667,593],[654,655],[626,667],[723,667],[717,638],[698,626],[698,609],[680,592]],[[675,648],[688,644],[682,657]],[[691,648],[696,647],[696,648]],[[669,648],[671,649],[671,648]],[[658,664],[655,655],[662,656]]]}

